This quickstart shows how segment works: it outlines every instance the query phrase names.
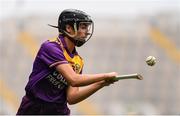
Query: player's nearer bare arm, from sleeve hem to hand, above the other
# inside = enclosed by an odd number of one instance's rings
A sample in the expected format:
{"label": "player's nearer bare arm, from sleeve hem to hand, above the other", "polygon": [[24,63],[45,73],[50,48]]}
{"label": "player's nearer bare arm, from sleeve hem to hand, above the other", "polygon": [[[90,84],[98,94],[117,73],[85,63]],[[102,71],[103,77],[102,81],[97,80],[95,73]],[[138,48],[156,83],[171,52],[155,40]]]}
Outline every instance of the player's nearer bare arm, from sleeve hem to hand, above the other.
{"label": "player's nearer bare arm, from sleeve hem to hand, above the other", "polygon": [[69,64],[58,65],[56,70],[61,73],[66,81],[73,87],[86,86],[102,80],[111,80],[117,75],[115,72],[80,75],[76,74]]}

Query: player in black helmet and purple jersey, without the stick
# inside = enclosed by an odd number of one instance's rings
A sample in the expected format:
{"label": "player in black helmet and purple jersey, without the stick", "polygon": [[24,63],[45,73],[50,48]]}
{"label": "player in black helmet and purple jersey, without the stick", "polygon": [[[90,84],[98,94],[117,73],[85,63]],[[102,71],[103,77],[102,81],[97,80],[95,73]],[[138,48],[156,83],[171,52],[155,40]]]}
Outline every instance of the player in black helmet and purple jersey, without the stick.
{"label": "player in black helmet and purple jersey, without the stick", "polygon": [[[64,10],[58,26],[53,27],[59,35],[41,45],[17,115],[69,115],[67,103],[76,104],[115,82],[115,72],[82,74],[83,59],[75,47],[82,46],[93,33],[93,21],[86,13]],[[84,89],[80,90],[81,86]]]}

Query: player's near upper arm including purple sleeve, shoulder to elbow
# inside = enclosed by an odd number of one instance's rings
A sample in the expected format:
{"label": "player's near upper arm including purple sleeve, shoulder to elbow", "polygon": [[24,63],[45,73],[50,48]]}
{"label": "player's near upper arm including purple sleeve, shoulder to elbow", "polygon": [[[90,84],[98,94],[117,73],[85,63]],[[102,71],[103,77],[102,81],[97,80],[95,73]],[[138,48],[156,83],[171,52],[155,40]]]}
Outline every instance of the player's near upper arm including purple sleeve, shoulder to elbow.
{"label": "player's near upper arm including purple sleeve, shoulder to elbow", "polygon": [[77,84],[78,74],[73,70],[58,44],[54,42],[43,43],[38,53],[38,58],[48,67],[55,68],[71,86]]}

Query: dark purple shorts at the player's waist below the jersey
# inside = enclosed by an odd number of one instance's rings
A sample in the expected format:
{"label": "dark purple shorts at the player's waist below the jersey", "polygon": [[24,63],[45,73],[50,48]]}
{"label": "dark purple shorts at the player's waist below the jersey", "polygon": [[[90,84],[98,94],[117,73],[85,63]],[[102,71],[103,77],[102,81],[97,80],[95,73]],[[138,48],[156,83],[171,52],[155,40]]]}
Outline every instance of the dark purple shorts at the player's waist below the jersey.
{"label": "dark purple shorts at the player's waist below the jersey", "polygon": [[49,103],[39,99],[24,96],[17,115],[70,115],[67,105]]}

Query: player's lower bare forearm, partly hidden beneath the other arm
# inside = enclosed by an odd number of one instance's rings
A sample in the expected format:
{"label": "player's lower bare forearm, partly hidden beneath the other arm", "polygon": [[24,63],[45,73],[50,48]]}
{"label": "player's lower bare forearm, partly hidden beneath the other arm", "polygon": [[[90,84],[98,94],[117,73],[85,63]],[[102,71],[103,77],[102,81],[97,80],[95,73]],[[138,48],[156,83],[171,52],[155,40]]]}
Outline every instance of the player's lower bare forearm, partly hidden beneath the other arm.
{"label": "player's lower bare forearm, partly hidden beneath the other arm", "polygon": [[79,87],[69,86],[67,90],[67,101],[70,105],[76,104],[88,98],[102,87],[108,86],[112,83],[114,83],[114,81],[100,81],[85,87],[81,87],[81,89],[79,89]]}

